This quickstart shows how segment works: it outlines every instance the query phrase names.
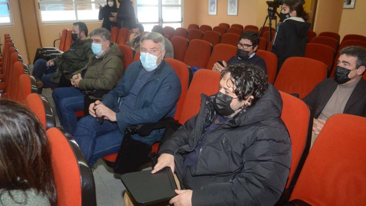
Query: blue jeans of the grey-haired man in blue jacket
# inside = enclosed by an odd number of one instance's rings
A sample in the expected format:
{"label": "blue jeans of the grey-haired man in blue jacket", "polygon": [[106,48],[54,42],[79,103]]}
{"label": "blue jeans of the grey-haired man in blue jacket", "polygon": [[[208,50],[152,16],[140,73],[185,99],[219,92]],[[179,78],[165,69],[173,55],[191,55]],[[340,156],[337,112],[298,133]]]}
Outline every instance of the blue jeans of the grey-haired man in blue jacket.
{"label": "blue jeans of the grey-haired man in blue jacket", "polygon": [[118,129],[117,122],[104,120],[103,124],[99,124],[96,118],[89,115],[78,122],[74,138],[92,168],[98,158],[119,151],[123,133]]}

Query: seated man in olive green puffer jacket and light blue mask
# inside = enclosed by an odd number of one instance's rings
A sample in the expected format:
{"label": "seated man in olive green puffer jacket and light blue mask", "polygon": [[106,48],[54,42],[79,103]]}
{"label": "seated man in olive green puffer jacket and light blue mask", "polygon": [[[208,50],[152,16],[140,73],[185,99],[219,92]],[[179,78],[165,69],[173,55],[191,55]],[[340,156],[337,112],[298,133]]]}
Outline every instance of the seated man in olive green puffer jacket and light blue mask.
{"label": "seated man in olive green puffer jacket and light blue mask", "polygon": [[111,33],[98,28],[90,36],[95,56],[90,56],[84,68],[72,73],[70,81],[74,87],[56,88],[52,92],[60,123],[71,135],[77,124],[75,111],[84,110],[84,91],[111,90],[123,76],[123,55],[117,44],[111,42]]}

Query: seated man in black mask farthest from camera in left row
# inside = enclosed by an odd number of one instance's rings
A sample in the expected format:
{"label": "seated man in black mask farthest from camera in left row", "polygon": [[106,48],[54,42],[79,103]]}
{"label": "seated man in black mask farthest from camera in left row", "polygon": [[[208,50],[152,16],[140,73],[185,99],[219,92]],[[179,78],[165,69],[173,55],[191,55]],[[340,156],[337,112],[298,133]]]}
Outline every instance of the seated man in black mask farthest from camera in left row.
{"label": "seated man in black mask farthest from camera in left row", "polygon": [[37,80],[37,85],[42,93],[43,88],[57,87],[63,72],[73,73],[83,68],[93,55],[91,51],[90,39],[87,39],[88,29],[84,22],[76,22],[72,24],[71,37],[74,43],[71,44],[64,54],[55,59],[46,62],[38,59],[34,63],[33,76]]}

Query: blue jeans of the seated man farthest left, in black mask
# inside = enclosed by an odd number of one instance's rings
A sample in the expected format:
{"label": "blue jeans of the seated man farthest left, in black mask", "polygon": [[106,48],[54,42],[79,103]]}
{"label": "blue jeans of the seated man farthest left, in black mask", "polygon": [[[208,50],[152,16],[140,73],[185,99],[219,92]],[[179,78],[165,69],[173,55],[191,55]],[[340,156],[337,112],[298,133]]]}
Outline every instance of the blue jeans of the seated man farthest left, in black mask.
{"label": "blue jeans of the seated man farthest left, in black mask", "polygon": [[[53,77],[54,73],[57,71],[57,67],[49,67],[47,70],[47,61],[44,59],[38,59],[34,63],[33,68],[33,77],[36,78],[36,80],[41,80],[43,83],[43,88],[51,88],[51,87],[57,87],[58,83],[51,81],[51,78]],[[42,88],[38,89],[38,93],[42,93]]]}

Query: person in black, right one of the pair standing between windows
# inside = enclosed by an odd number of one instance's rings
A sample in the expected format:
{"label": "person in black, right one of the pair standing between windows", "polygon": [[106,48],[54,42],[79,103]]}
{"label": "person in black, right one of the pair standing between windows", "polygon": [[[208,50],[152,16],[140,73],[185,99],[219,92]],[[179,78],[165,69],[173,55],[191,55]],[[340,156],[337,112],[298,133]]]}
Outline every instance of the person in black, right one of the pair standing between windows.
{"label": "person in black, right one of the pair standing between windows", "polygon": [[119,8],[117,13],[113,13],[113,17],[117,18],[117,26],[119,28],[127,28],[128,30],[136,24],[134,7],[130,0],[118,0]]}

